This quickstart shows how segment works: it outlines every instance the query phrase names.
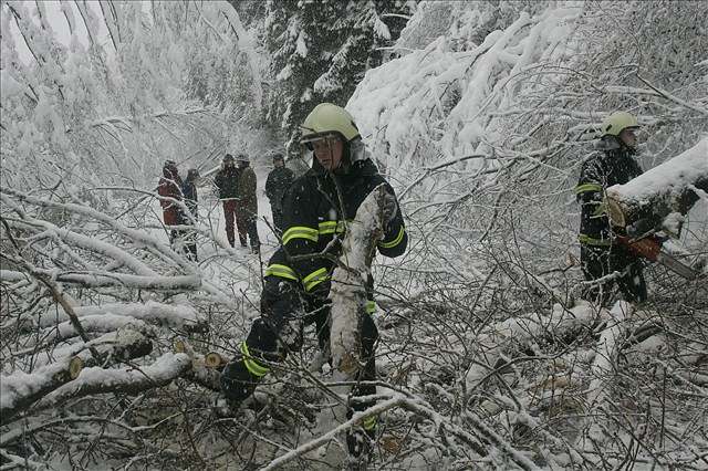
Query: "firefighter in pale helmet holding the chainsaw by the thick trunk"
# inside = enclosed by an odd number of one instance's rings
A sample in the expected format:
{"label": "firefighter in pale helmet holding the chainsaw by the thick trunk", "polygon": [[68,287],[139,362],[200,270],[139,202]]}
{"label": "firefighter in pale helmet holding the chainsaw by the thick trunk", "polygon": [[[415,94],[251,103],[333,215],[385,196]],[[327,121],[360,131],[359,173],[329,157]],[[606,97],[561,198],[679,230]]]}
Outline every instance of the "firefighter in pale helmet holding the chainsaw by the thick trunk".
{"label": "firefighter in pale helmet holding the chainsaw by the thick trunk", "polygon": [[[629,302],[646,300],[646,282],[639,258],[620,243],[611,227],[603,203],[605,190],[613,185],[626,184],[642,175],[635,160],[639,127],[637,118],[626,112],[611,114],[602,123],[602,138],[597,151],[581,169],[575,187],[581,203],[580,247],[585,279],[595,282],[584,293],[590,301],[606,304],[616,282],[624,299]],[[615,275],[614,273],[617,272]]]}

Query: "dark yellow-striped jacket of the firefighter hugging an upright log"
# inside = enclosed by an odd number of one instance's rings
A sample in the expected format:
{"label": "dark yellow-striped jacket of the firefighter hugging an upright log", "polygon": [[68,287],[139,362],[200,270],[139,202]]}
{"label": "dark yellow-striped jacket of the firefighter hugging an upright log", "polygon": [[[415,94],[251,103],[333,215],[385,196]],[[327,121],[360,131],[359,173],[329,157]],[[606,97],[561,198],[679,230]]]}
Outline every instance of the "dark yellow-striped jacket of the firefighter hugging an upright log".
{"label": "dark yellow-striped jacket of the firefighter hugging an upright log", "polygon": [[[333,178],[339,180],[342,189],[343,211]],[[341,244],[330,247],[330,242],[335,233],[342,239],[344,220],[353,220],[364,199],[381,184],[386,184],[388,191],[395,195],[369,159],[348,166],[348,171],[343,175],[333,177],[320,167],[298,178],[283,197],[282,245],[270,259],[266,275],[299,282],[308,293],[319,290],[321,283],[330,280],[334,263],[322,257],[298,261],[291,261],[290,257],[317,254],[325,248],[327,253],[339,257]],[[399,208],[385,232],[384,240],[378,243],[378,252],[392,258],[403,254],[408,236]]]}

